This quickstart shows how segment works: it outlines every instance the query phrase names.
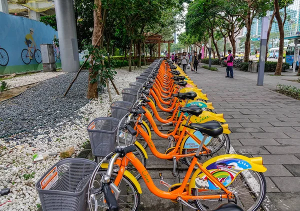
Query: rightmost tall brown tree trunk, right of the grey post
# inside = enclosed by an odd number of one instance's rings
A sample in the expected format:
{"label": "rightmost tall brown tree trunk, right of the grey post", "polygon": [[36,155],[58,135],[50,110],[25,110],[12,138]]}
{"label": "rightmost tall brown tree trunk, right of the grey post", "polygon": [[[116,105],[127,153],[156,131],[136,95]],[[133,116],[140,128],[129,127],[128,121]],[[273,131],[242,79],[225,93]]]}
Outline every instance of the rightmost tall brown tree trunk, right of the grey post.
{"label": "rightmost tall brown tree trunk, right of the grey post", "polygon": [[281,75],[281,68],[282,68],[282,59],[283,59],[283,45],[284,45],[284,30],[283,30],[283,23],[279,13],[279,6],[278,0],[274,0],[274,11],[275,17],[278,23],[279,29],[279,52],[278,52],[278,61],[274,75]]}

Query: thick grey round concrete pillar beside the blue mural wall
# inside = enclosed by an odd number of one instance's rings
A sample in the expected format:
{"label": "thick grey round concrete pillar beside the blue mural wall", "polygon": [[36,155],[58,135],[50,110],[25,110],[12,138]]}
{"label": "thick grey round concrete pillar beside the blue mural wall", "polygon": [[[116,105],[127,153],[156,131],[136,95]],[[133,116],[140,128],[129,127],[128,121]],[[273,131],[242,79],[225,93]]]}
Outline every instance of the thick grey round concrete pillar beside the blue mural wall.
{"label": "thick grey round concrete pillar beside the blue mural wall", "polygon": [[55,13],[62,71],[78,71],[79,54],[73,0],[55,0]]}

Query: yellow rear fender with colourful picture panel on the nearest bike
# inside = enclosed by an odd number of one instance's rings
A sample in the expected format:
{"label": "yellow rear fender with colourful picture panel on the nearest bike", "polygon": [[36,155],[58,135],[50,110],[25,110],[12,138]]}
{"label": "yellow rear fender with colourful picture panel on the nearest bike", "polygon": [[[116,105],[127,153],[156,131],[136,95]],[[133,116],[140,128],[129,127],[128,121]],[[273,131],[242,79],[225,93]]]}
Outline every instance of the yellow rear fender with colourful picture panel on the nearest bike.
{"label": "yellow rear fender with colourful picture panel on the nearest bike", "polygon": [[[206,168],[224,186],[231,184],[236,176],[239,173],[243,173],[244,170],[251,169],[258,172],[266,171],[266,167],[262,164],[262,157],[249,158],[238,154],[224,154],[212,157],[203,163],[203,167]],[[207,176],[201,172],[199,168],[194,172],[190,179],[188,191],[191,191],[191,188],[205,188],[211,190],[220,189],[217,184],[209,180],[209,178],[207,178]]]}

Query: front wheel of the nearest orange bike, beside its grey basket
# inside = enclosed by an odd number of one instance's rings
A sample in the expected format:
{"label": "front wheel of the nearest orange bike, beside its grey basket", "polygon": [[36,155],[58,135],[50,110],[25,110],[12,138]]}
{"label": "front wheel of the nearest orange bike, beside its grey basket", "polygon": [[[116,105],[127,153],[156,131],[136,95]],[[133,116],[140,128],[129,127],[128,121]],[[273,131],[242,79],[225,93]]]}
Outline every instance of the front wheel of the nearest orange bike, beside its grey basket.
{"label": "front wheel of the nearest orange bike, beside its grey basket", "polygon": [[[95,188],[101,187],[101,178],[104,174],[106,174],[105,169],[98,170],[98,172],[95,176],[95,179],[93,180],[93,186]],[[112,172],[110,180],[112,180],[112,181],[115,180],[116,176],[117,176],[117,173]],[[133,184],[133,182],[128,177],[123,175],[123,177],[118,185],[118,188],[121,190],[119,197],[117,199],[120,210],[124,210],[124,211],[138,210],[138,206],[140,203],[140,195],[137,191],[136,186]],[[104,196],[102,193],[97,194],[95,197],[97,200],[99,200],[103,203]],[[107,210],[107,206],[99,207],[99,203],[98,203],[97,210],[103,210],[103,211]]]}

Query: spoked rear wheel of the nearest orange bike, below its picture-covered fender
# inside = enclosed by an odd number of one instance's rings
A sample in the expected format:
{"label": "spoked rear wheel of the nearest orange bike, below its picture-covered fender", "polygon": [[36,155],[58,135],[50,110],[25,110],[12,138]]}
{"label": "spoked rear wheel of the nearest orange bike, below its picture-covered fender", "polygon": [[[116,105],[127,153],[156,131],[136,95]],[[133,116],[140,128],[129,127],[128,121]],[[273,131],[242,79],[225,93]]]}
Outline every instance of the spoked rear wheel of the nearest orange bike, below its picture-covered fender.
{"label": "spoked rear wheel of the nearest orange bike, below its picture-covered fender", "polygon": [[[227,186],[227,189],[234,193],[237,201],[237,205],[246,211],[257,210],[265,196],[266,182],[264,175],[261,172],[254,170],[244,170],[240,172],[231,184]],[[211,194],[224,194],[223,190],[203,190],[196,189],[192,190],[193,195],[211,195]],[[215,199],[202,199],[194,200],[195,205],[200,210],[214,210],[219,205],[227,203],[228,200]],[[233,203],[233,202],[232,202]]]}

